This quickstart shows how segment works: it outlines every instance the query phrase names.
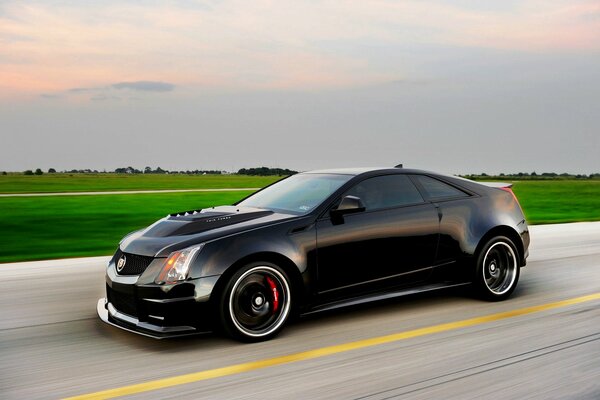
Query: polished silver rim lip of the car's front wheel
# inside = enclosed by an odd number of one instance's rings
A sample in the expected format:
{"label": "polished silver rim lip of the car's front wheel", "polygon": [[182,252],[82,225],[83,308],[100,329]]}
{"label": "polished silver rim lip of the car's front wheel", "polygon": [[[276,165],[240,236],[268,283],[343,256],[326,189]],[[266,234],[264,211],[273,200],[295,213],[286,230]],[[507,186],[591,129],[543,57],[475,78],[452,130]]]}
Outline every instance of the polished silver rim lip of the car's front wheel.
{"label": "polished silver rim lip of the car's front wheel", "polygon": [[[236,290],[237,290],[238,286],[240,285],[240,283],[243,282],[244,278],[246,278],[247,276],[252,275],[256,272],[265,272],[265,273],[271,274],[281,284],[281,287],[284,292],[284,293],[282,293],[283,302],[282,302],[282,307],[281,307],[279,316],[277,317],[277,319],[275,320],[275,322],[273,324],[271,324],[266,329],[263,329],[260,331],[253,331],[251,329],[244,327],[236,318],[235,311],[234,311],[234,304],[233,304],[235,293],[236,293]],[[260,338],[260,337],[268,336],[268,335],[272,334],[273,332],[277,331],[277,329],[279,329],[279,327],[287,319],[287,315],[289,314],[289,311],[290,311],[290,304],[291,304],[290,288],[289,288],[288,282],[284,278],[283,274],[273,267],[270,267],[267,265],[259,265],[259,266],[250,268],[248,271],[244,272],[242,274],[242,276],[240,276],[236,280],[235,284],[231,288],[231,292],[229,294],[229,315],[231,316],[231,321],[233,322],[233,325],[236,327],[236,329],[239,332],[241,332],[244,335],[249,336],[249,337]]]}

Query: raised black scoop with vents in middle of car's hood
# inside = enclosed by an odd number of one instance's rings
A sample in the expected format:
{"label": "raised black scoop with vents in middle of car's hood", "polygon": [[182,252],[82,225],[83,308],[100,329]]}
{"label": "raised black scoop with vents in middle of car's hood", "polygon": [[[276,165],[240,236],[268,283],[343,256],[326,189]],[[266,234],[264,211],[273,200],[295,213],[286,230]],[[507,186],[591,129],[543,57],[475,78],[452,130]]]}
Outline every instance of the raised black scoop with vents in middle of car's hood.
{"label": "raised black scoop with vents in middle of car's hood", "polygon": [[167,218],[151,226],[144,236],[165,237],[191,235],[235,225],[273,214],[273,211],[221,212],[185,211],[170,214]]}

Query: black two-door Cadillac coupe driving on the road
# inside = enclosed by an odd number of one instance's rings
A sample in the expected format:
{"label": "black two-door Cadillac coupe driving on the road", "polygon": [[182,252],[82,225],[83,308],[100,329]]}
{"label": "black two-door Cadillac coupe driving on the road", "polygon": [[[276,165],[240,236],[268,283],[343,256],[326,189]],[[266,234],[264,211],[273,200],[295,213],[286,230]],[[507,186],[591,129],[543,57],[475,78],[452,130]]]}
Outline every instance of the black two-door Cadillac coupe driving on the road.
{"label": "black two-door Cadillac coupe driving on the road", "polygon": [[305,172],[127,235],[98,314],[156,338],[220,329],[265,340],[292,314],[407,293],[472,285],[506,299],[528,246],[510,185],[402,168]]}

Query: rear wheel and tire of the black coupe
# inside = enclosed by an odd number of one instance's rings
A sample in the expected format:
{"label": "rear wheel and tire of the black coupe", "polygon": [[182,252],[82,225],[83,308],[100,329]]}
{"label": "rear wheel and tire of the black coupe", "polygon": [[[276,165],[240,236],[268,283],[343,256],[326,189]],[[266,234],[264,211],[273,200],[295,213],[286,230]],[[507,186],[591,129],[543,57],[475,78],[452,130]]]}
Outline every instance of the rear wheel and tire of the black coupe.
{"label": "rear wheel and tire of the black coupe", "polygon": [[507,299],[517,286],[521,265],[515,244],[505,236],[490,239],[477,256],[474,286],[486,300]]}

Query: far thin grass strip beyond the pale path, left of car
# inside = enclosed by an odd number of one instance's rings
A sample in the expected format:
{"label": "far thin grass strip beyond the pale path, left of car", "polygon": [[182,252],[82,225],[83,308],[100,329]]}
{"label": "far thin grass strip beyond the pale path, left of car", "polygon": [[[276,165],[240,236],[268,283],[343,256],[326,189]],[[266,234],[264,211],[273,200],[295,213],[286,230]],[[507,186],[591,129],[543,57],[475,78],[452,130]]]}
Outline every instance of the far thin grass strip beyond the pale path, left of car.
{"label": "far thin grass strip beyond the pale path, left of car", "polygon": [[0,193],[258,188],[280,178],[248,175],[8,174],[0,175]]}

